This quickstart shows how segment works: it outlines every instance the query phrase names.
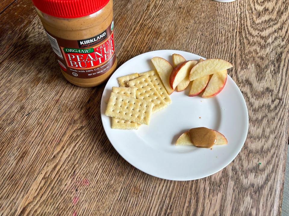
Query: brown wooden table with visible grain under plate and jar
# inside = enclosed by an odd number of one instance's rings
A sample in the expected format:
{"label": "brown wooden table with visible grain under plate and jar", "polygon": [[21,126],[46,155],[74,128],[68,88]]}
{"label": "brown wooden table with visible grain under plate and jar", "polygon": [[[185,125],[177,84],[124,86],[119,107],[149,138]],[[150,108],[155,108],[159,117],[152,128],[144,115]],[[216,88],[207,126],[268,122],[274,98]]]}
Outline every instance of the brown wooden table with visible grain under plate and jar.
{"label": "brown wooden table with visible grain under plate and jar", "polygon": [[[237,158],[174,182],[128,164],[100,118],[104,85],[55,63],[30,0],[0,3],[0,215],[280,215],[288,143],[289,1],[115,0],[119,66],[157,49],[234,64],[250,126]],[[260,163],[260,164],[259,164]]]}

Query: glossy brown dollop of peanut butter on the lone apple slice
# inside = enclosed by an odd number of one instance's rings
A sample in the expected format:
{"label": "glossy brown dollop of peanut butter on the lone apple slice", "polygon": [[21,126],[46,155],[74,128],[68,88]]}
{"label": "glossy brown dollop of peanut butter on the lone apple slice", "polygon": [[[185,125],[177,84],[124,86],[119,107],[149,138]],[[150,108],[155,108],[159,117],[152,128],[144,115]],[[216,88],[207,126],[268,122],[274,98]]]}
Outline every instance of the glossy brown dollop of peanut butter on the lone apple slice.
{"label": "glossy brown dollop of peanut butter on the lone apple slice", "polygon": [[192,128],[188,131],[191,142],[199,148],[212,148],[216,143],[216,132],[205,127]]}

